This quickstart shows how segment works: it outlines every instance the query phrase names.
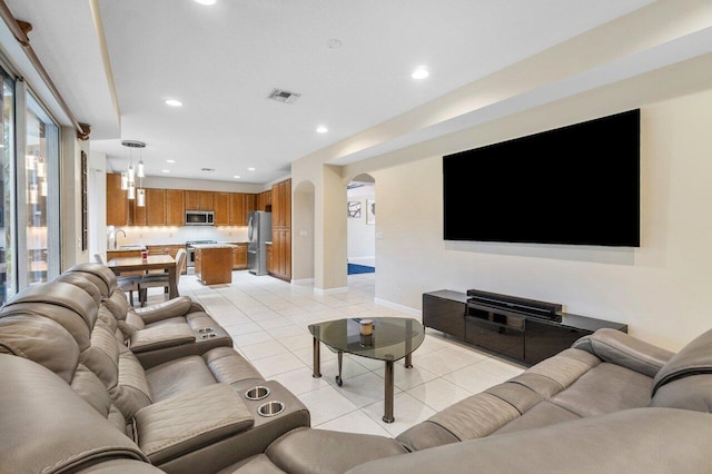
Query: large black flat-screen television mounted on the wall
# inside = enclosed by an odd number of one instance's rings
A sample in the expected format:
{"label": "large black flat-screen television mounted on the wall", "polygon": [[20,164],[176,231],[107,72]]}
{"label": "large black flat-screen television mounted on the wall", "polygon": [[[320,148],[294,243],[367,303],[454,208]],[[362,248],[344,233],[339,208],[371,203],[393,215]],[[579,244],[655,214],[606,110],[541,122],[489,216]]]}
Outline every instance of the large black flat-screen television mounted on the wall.
{"label": "large black flat-screen television mounted on the wall", "polygon": [[640,247],[640,109],[443,157],[445,240]]}

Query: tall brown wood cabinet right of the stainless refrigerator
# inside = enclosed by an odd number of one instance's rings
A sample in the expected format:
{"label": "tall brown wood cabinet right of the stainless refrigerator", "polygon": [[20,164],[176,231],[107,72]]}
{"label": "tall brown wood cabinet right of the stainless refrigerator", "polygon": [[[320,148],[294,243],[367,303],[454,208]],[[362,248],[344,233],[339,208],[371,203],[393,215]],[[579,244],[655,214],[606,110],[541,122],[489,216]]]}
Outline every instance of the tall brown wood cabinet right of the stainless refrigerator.
{"label": "tall brown wood cabinet right of the stainless refrigerator", "polygon": [[[271,188],[271,264],[267,271],[284,280],[291,279],[291,179]],[[271,268],[271,269],[270,269]]]}

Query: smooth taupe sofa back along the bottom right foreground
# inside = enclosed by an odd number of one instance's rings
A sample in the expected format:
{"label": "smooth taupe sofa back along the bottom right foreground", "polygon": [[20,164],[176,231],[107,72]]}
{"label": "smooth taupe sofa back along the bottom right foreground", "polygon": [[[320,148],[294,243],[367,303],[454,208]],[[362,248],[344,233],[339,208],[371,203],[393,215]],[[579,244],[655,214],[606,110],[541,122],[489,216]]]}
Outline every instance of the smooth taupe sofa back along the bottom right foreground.
{"label": "smooth taupe sofa back along the bottom right foreground", "polygon": [[711,423],[709,413],[632,408],[386,457],[347,474],[709,472]]}

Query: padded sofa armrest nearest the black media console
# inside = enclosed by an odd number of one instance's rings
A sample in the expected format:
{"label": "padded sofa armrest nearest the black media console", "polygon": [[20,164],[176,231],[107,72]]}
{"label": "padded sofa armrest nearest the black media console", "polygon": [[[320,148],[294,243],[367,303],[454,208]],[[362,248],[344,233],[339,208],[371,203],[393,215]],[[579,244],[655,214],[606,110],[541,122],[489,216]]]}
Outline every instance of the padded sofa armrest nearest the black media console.
{"label": "padded sofa armrest nearest the black media console", "polygon": [[674,355],[615,329],[599,329],[576,340],[573,348],[592,353],[602,361],[654,377]]}

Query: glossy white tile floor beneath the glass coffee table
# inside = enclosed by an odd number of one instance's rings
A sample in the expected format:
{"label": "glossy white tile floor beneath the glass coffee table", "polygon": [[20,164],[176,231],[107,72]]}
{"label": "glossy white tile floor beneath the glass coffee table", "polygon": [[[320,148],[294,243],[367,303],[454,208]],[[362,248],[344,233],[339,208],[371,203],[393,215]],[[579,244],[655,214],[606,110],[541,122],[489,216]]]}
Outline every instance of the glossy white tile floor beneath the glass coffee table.
{"label": "glossy white tile floor beneath the glass coffee table", "polygon": [[[345,294],[317,296],[312,286],[234,271],[230,285],[204,286],[194,275],[184,275],[179,293],[200,302],[265,378],[278,381],[301,399],[312,413],[313,427],[397,436],[437,411],[524,371],[427,329],[413,354],[414,367],[396,363],[396,421],[384,423],[384,363],[345,355],[339,387],[334,379],[336,355],[323,348],[323,377],[312,377],[309,324],[356,315],[408,316],[373,303],[374,274],[349,276],[348,287]],[[164,300],[159,292],[149,289],[149,304]]]}

